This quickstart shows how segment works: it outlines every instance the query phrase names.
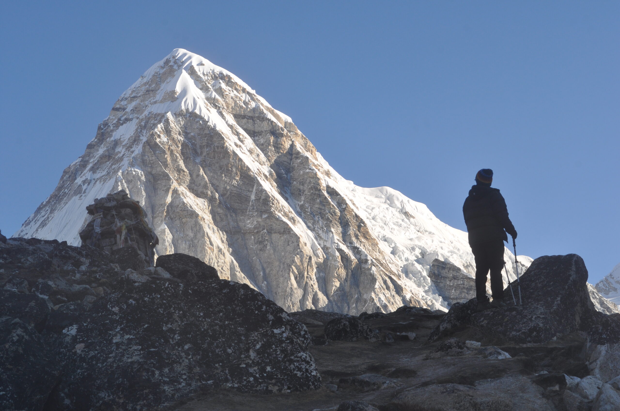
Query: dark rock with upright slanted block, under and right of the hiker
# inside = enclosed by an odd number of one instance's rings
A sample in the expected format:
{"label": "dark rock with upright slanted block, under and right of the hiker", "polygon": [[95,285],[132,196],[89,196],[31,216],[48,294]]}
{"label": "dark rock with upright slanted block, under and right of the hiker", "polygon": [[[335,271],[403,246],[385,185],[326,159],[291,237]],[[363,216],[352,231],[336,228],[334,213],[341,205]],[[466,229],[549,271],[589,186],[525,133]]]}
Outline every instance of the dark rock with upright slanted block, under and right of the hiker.
{"label": "dark rock with upright slanted block, under and right of the hiker", "polygon": [[[522,306],[476,313],[475,299],[455,304],[430,339],[471,325],[517,343],[547,342],[576,331],[587,332],[596,344],[620,342],[620,318],[616,318],[619,314],[596,311],[587,280],[588,271],[576,254],[539,257],[521,277]],[[513,287],[517,292],[516,284]]]}

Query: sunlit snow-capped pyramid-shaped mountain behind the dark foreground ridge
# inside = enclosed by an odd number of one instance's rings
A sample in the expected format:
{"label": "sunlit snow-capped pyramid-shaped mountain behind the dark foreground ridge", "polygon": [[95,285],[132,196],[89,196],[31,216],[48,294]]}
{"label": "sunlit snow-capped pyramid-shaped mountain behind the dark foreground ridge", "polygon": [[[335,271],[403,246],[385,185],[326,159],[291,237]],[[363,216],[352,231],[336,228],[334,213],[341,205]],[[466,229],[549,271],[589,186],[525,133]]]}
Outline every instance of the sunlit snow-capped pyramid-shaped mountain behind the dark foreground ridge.
{"label": "sunlit snow-capped pyramid-shaped mountain behind the dark foreground ridge", "polygon": [[76,215],[120,189],[147,212],[157,254],[195,256],[286,311],[446,309],[432,262],[474,274],[466,233],[396,190],[345,180],[288,116],[182,49],[123,93],[15,235],[79,244]]}

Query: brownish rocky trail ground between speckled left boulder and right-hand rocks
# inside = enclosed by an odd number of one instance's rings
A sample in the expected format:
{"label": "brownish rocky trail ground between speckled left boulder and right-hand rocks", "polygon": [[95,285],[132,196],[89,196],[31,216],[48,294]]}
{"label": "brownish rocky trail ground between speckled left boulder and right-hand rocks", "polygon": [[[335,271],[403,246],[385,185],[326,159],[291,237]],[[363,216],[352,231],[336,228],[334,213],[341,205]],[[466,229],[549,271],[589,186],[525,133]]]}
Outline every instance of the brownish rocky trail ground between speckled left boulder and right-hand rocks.
{"label": "brownish rocky trail ground between speckled left boulder and right-hand rocks", "polygon": [[[566,335],[546,344],[494,345],[501,344],[494,335],[466,326],[430,343],[429,335],[444,316],[421,311],[404,309],[366,319],[371,329],[379,331],[375,340],[330,340],[326,345],[309,347],[322,378],[323,386],[317,391],[270,396],[210,392],[174,409],[337,410],[343,402],[362,401],[379,410],[394,411],[564,410],[564,374],[588,376],[583,357],[587,337],[583,334]],[[320,344],[325,326],[315,324],[318,321],[314,318],[324,314],[299,314],[294,317],[306,323]],[[409,339],[410,333],[415,334],[414,340]],[[476,341],[481,347],[451,348],[454,338],[463,343]],[[505,354],[511,358],[502,358]],[[445,404],[437,403],[440,397]],[[459,407],[470,398],[472,404]],[[476,398],[497,404],[497,408],[480,407]],[[587,405],[585,400],[583,404]]]}

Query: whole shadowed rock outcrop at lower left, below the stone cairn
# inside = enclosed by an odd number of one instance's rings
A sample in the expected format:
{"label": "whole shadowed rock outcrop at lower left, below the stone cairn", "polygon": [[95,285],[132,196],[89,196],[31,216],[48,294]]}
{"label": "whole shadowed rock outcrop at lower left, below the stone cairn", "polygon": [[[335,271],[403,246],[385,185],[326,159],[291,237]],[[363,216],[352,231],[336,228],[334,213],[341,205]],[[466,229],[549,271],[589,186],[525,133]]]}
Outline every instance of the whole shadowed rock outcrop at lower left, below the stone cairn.
{"label": "whole shadowed rock outcrop at lower left, below the stone cairn", "polygon": [[124,249],[0,243],[0,408],[141,410],[321,386],[312,337],[273,301],[184,254],[126,268],[141,256]]}

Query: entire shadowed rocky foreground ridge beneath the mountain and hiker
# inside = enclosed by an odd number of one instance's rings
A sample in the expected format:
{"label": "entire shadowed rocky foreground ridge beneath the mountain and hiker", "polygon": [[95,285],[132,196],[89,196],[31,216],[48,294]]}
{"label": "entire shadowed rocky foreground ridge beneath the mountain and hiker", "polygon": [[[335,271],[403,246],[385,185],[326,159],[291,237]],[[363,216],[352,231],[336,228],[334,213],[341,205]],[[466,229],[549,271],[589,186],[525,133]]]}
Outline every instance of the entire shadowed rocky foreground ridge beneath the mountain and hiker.
{"label": "entire shadowed rocky foreground ridge beneath the mountain and hiker", "polygon": [[351,316],[286,313],[184,254],[0,240],[3,410],[620,407],[620,314],[574,254],[534,260],[523,306]]}

